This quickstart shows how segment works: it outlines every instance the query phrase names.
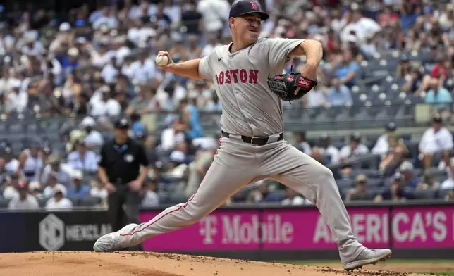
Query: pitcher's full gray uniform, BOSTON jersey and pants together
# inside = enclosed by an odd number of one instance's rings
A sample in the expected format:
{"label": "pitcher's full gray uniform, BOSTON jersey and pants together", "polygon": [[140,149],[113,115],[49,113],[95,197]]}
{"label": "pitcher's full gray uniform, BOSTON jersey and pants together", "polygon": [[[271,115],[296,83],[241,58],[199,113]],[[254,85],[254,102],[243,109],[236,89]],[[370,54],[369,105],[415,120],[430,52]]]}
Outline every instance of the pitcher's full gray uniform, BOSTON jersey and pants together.
{"label": "pitcher's full gray uniform, BOSTON jersey and pants together", "polygon": [[[269,73],[282,73],[289,52],[301,42],[258,39],[235,54],[230,54],[228,46],[219,46],[202,58],[200,75],[216,85],[223,106],[221,127],[229,135],[221,137],[221,146],[197,192],[186,203],[167,208],[149,222],[123,227],[119,231],[121,246],[192,225],[247,184],[268,178],[294,189],[319,208],[336,237],[343,263],[359,256],[364,246],[352,234],[333,173],[281,139],[282,103],[266,80]],[[241,135],[269,138],[257,146],[244,142]]]}

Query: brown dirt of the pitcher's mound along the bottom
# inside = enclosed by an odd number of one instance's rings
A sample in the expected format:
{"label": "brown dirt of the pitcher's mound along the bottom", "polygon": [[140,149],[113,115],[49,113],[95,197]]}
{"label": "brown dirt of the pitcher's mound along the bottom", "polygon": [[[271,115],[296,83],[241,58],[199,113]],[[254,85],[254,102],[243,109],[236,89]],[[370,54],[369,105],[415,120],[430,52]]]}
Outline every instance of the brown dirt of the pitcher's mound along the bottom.
{"label": "brown dirt of the pitcher's mound along the bottom", "polygon": [[[384,265],[381,265],[384,264]],[[166,253],[94,253],[43,251],[0,254],[1,276],[276,276],[276,275],[411,275],[402,269],[369,265],[368,270],[345,272],[338,268],[240,261]],[[394,270],[384,271],[381,267]],[[364,267],[365,268],[365,267]],[[374,269],[374,270],[372,270]],[[415,270],[413,270],[415,271]],[[420,274],[419,274],[420,275]]]}

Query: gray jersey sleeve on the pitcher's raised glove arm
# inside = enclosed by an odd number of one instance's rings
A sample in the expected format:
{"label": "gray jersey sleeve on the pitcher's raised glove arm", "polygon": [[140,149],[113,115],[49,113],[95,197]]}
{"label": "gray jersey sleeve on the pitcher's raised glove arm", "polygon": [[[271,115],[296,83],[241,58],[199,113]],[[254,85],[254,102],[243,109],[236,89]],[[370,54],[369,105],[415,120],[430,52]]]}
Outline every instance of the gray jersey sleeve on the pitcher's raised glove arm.
{"label": "gray jersey sleeve on the pitcher's raised glove arm", "polygon": [[[271,38],[268,39],[268,59],[271,68],[283,70],[284,66],[291,58],[288,57],[290,51],[295,49],[305,39]],[[276,70],[276,73],[277,70]]]}

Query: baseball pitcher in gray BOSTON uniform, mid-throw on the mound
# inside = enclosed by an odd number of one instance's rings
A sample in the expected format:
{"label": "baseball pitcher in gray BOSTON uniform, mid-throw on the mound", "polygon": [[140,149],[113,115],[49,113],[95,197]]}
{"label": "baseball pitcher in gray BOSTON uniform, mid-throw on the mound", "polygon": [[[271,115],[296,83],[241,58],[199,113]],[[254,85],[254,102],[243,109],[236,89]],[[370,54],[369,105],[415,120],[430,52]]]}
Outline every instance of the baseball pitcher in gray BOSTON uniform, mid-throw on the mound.
{"label": "baseball pitcher in gray BOSTON uniform, mid-throw on the mound", "polygon": [[[221,146],[199,189],[186,202],[167,208],[149,222],[106,234],[94,251],[116,251],[158,234],[194,224],[251,182],[273,179],[304,195],[319,209],[336,237],[345,270],[384,261],[389,249],[367,249],[352,234],[348,213],[331,170],[290,145],[283,137],[281,101],[300,99],[317,84],[322,58],[318,41],[259,38],[269,18],[257,2],[238,1],[229,14],[233,42],[209,56],[160,65],[166,72],[213,80],[222,103]],[[283,74],[295,56],[305,55],[300,73]]]}

